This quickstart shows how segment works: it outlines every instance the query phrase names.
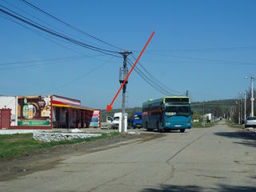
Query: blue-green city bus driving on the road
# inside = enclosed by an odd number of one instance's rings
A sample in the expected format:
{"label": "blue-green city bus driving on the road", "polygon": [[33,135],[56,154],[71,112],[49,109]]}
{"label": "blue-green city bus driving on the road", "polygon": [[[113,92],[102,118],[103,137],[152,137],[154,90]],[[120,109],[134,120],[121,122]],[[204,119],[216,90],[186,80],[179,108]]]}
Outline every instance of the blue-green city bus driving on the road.
{"label": "blue-green city bus driving on the road", "polygon": [[190,98],[171,96],[150,99],[142,104],[142,124],[146,130],[180,130],[192,127]]}

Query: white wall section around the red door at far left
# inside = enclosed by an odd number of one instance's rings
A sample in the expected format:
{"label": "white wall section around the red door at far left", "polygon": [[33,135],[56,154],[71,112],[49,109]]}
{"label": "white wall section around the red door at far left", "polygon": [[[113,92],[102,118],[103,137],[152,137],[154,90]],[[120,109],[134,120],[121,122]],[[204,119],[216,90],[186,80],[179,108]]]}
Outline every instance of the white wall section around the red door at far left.
{"label": "white wall section around the red door at far left", "polygon": [[11,109],[11,123],[10,126],[18,125],[18,97],[14,96],[0,96],[0,109]]}

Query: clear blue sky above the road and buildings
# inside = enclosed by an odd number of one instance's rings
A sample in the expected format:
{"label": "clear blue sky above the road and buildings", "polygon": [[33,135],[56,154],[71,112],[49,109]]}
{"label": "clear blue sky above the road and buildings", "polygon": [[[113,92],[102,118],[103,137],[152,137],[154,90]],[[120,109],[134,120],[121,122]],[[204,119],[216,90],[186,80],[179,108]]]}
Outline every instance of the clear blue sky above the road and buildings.
{"label": "clear blue sky above the road and buildings", "polygon": [[[140,61],[172,94],[189,90],[194,101],[236,98],[250,86],[244,77],[255,74],[255,1],[29,2],[88,34],[134,51],[136,57],[155,31]],[[21,1],[0,0],[0,4],[82,42],[114,50]],[[117,93],[122,58],[38,34],[3,14],[0,29],[0,94],[59,94],[81,99],[84,106],[105,109]],[[52,58],[62,60],[44,62]],[[34,60],[41,62],[27,63]],[[135,71],[127,91],[128,107],[163,96]],[[113,107],[121,108],[121,101],[120,94]]]}

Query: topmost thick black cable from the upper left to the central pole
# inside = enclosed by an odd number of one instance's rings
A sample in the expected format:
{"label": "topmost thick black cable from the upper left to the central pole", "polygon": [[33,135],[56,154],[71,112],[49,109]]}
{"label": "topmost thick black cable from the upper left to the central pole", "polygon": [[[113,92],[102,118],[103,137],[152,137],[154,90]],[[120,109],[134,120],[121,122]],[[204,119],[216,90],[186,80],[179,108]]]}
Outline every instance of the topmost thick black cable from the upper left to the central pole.
{"label": "topmost thick black cable from the upper left to the central pole", "polygon": [[27,1],[25,1],[25,0],[21,0],[21,1],[24,2],[24,3],[26,3],[26,4],[29,5],[29,6],[33,7],[35,10],[38,10],[38,11],[42,12],[43,14],[46,14],[48,17],[54,18],[54,19],[57,20],[58,22],[62,22],[62,24],[66,25],[66,26],[69,26],[69,27],[72,28],[73,30],[77,30],[78,32],[80,32],[80,33],[82,33],[82,34],[85,34],[85,35],[89,36],[90,38],[94,38],[94,39],[98,40],[99,42],[105,43],[105,44],[108,45],[108,46],[112,46],[112,47],[114,47],[114,48],[116,48],[116,49],[118,49],[118,50],[122,50],[122,48],[120,48],[120,47],[118,47],[118,46],[114,46],[114,45],[110,44],[109,42],[105,42],[105,41],[103,41],[102,39],[96,38],[96,37],[94,37],[93,35],[86,33],[86,32],[83,31],[83,30],[79,30],[78,28],[76,28],[76,27],[74,27],[74,26],[71,26],[69,23],[62,21],[61,19],[55,17],[55,16],[52,15],[52,14],[47,13],[45,10],[40,9],[38,6],[34,6],[34,5],[33,5],[32,3],[30,3],[30,2],[27,2]]}

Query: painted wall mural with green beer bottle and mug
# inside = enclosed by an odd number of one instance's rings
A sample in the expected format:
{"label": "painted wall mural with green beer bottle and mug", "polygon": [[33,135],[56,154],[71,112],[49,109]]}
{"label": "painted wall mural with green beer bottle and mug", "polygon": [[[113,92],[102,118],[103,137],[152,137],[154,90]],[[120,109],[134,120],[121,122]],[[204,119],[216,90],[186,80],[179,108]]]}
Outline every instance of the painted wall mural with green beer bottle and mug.
{"label": "painted wall mural with green beer bottle and mug", "polygon": [[50,96],[19,96],[18,126],[50,126]]}

